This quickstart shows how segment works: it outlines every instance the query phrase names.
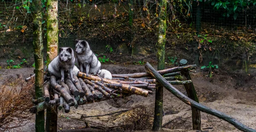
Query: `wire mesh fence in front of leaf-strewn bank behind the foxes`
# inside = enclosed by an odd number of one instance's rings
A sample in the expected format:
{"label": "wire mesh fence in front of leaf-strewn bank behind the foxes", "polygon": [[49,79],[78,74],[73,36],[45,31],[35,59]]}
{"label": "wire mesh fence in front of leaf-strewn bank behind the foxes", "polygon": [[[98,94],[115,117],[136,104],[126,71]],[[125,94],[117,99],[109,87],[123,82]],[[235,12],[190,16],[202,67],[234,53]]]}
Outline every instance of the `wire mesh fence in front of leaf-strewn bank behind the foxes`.
{"label": "wire mesh fence in front of leaf-strewn bank behind the foxes", "polygon": [[[143,15],[146,17],[140,12],[143,11],[142,5],[147,1],[135,2],[137,4],[133,8],[137,14],[134,14],[134,23],[137,23],[140,17]],[[10,60],[13,60],[12,65],[15,65],[26,59],[27,67],[31,67],[34,63],[32,17],[24,5],[22,1],[17,0],[0,2],[0,66],[2,68],[11,65]],[[143,37],[140,37],[141,33],[133,32],[132,29],[135,27],[129,27],[124,22],[128,21],[127,1],[119,4],[102,0],[91,4],[90,0],[59,0],[58,8],[60,47],[68,46],[74,49],[75,40],[80,39],[87,40],[97,55],[107,55],[111,47],[113,54],[119,55],[118,57],[131,56],[131,61],[135,61],[139,56],[144,58],[154,56],[155,59],[157,35],[152,34],[156,34],[157,31]],[[111,11],[114,13],[119,11],[122,19],[115,19],[113,23],[108,22],[112,18],[108,18],[107,12]],[[227,17],[227,13],[225,15],[224,13],[223,9],[213,9],[211,3],[206,1],[201,3],[201,6],[193,3],[190,17],[186,20],[180,19],[181,26],[176,30],[177,32],[171,31],[171,28],[167,29],[166,62],[171,62],[169,58],[176,56],[175,61],[187,59],[189,63],[196,63],[198,66],[207,66],[212,62],[212,65],[218,65],[219,69],[238,75],[241,80],[245,75],[256,75],[256,7],[248,6],[236,14],[236,17],[234,14]],[[92,22],[97,23],[96,26],[91,26]],[[76,24],[72,25],[72,23]],[[100,30],[102,27],[112,29],[102,32]],[[118,31],[120,29],[122,31]],[[137,31],[140,30],[143,29],[138,28]],[[195,30],[199,32],[193,32]],[[46,26],[43,26],[43,31],[45,34]],[[169,34],[170,32],[172,34]],[[45,37],[44,46],[46,46]]]}

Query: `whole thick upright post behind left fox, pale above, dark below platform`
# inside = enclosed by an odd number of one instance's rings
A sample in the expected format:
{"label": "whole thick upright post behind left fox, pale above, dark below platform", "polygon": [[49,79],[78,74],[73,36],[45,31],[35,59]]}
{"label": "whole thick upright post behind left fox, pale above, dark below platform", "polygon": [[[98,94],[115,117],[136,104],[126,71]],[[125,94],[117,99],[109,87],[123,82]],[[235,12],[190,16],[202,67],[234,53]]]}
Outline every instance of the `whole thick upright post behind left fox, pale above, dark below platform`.
{"label": "whole thick upright post behind left fox, pale above, dark below platform", "polygon": [[[58,55],[58,0],[47,0],[47,66]],[[46,109],[46,132],[57,132],[58,109]]]}

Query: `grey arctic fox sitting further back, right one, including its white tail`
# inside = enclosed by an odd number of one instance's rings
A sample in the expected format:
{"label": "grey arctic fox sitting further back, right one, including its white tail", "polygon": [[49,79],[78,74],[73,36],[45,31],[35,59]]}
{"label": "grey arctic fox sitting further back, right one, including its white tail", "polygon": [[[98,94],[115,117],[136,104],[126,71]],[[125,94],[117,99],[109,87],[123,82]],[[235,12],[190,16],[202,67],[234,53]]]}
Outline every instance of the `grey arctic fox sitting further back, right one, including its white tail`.
{"label": "grey arctic fox sitting further back, right one, including its white tail", "polygon": [[108,70],[100,69],[101,63],[93,54],[87,41],[76,40],[76,55],[81,72],[93,75],[99,74],[100,77],[112,80],[112,75]]}

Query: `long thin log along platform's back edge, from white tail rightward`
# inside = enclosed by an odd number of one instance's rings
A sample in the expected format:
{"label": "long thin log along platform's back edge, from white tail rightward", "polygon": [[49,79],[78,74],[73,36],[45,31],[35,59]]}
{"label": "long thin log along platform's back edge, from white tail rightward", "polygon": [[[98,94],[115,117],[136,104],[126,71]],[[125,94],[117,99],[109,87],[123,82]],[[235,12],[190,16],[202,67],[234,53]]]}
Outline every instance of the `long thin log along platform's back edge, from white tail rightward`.
{"label": "long thin log along platform's back edge, from white tail rightward", "polygon": [[[171,73],[171,72],[179,72],[181,69],[196,69],[196,65],[178,66],[178,67],[173,67],[173,68],[169,68],[169,69],[159,70],[157,72],[159,74],[163,75],[163,74],[167,74],[167,73]],[[112,74],[112,77],[116,77],[116,76],[119,76],[119,77],[128,76],[128,77],[133,77],[133,78],[139,78],[139,77],[148,77],[151,75],[146,72],[133,73],[133,74]]]}

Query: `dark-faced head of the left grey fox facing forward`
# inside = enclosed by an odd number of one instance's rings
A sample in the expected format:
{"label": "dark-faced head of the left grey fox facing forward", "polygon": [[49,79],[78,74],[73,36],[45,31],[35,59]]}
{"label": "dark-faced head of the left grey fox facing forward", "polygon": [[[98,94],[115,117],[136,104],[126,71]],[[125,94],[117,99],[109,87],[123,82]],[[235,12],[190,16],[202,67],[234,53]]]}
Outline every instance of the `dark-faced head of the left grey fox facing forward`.
{"label": "dark-faced head of the left grey fox facing forward", "polygon": [[74,57],[73,49],[71,48],[59,48],[59,59],[61,61],[70,61]]}

